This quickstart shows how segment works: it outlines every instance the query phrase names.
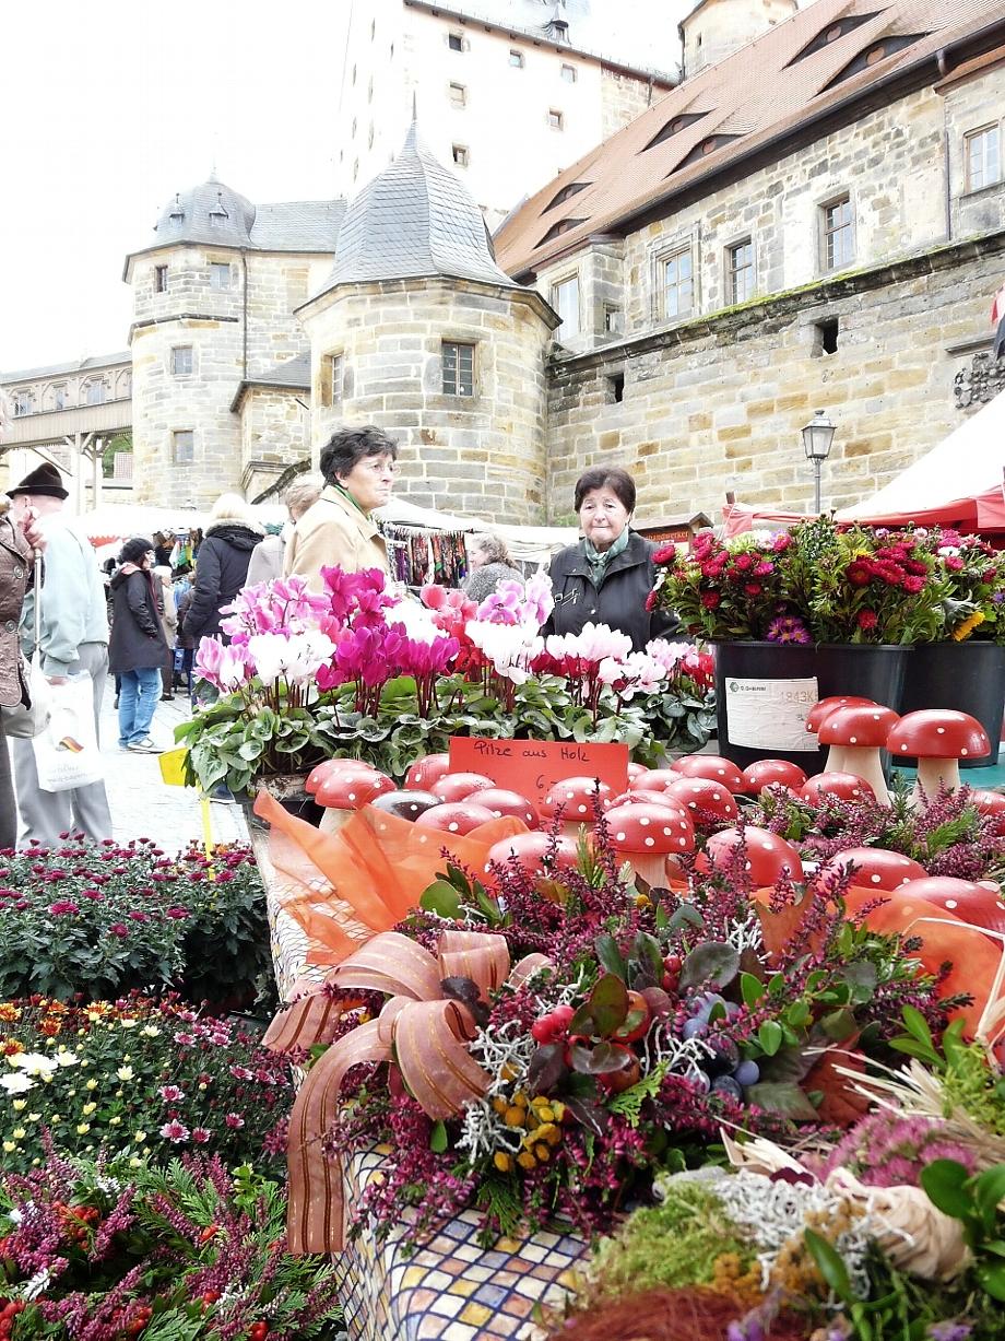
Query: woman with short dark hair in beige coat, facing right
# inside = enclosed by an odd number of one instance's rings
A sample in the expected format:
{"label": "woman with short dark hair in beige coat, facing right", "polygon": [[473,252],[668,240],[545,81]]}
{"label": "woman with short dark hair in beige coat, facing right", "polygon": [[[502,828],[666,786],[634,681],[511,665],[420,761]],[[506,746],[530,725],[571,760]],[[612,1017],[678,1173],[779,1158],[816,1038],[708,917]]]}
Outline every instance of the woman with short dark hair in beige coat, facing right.
{"label": "woman with short dark hair in beige coat, facing right", "polygon": [[394,488],[398,444],[379,428],[343,429],[322,449],[324,488],[293,527],[285,577],[304,577],[320,591],[323,567],[346,573],[382,569],[390,577],[383,536],[370,514]]}

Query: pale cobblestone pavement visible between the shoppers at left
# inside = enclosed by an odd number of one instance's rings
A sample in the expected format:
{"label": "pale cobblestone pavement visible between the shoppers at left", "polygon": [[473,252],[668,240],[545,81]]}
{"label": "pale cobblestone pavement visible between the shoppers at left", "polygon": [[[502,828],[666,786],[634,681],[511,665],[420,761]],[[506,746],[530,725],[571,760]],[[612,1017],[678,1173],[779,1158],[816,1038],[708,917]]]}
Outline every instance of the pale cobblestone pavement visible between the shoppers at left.
{"label": "pale cobblestone pavement visible between the shoppers at left", "polygon": [[[168,787],[161,779],[158,755],[130,754],[118,747],[118,720],[113,708],[115,691],[109,679],[100,717],[102,754],[106,760],[105,786],[111,807],[113,837],[153,838],[158,848],[174,853],[194,838],[202,841],[202,807],[192,787]],[[189,717],[185,695],[158,703],[150,735],[170,750],[174,728]],[[209,823],[216,842],[247,842],[248,830],[240,806],[210,802]]]}

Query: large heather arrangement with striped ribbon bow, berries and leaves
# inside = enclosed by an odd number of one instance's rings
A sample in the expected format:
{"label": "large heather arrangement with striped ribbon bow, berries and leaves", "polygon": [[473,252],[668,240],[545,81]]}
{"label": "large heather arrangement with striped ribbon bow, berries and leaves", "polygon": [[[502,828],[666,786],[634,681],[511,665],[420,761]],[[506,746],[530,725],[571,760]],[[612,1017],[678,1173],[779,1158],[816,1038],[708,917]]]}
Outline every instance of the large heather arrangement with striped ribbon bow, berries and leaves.
{"label": "large heather arrangement with striped ribbon bow, berries and leaves", "polygon": [[[954,1002],[917,943],[846,915],[847,869],[799,888],[783,872],[756,900],[742,835],[724,865],[687,858],[677,889],[632,881],[603,818],[575,866],[553,842],[544,874],[517,856],[478,878],[449,866],[331,972],[338,1027],[297,1105],[340,1089],[318,1133],[332,1160],[393,1147],[356,1231],[410,1215],[417,1240],[469,1204],[486,1242],[556,1223],[592,1238],[651,1199],[657,1171],[722,1159],[724,1130],[825,1141],[858,1120],[838,1066],[895,1066],[906,1007],[945,1027]],[[312,1011],[295,1003],[279,1033],[303,1043]],[[310,1188],[303,1153],[291,1176]]]}

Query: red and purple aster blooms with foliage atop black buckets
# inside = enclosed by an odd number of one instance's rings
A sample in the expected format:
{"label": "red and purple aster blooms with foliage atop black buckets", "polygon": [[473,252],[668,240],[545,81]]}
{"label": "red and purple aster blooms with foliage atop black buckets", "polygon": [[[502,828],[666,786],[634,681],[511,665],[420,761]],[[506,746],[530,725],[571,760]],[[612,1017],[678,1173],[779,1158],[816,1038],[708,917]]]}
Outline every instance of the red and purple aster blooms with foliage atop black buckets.
{"label": "red and purple aster blooms with foliage atop black buckets", "polygon": [[998,637],[1005,574],[984,542],[955,532],[838,526],[658,551],[653,603],[691,634],[770,642],[915,644]]}

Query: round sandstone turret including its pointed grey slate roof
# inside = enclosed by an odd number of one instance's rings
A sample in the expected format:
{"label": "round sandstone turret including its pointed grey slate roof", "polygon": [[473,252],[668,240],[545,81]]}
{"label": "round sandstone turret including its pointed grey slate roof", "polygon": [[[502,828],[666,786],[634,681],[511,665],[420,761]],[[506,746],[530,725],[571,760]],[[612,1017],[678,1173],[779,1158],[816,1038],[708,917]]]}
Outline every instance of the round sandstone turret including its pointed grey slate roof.
{"label": "round sandstone turret including its pointed grey slate roof", "polygon": [[398,493],[494,520],[544,519],[545,355],[559,318],[496,266],[485,221],[413,122],[348,205],[311,341],[312,445],[342,422],[402,445]]}

